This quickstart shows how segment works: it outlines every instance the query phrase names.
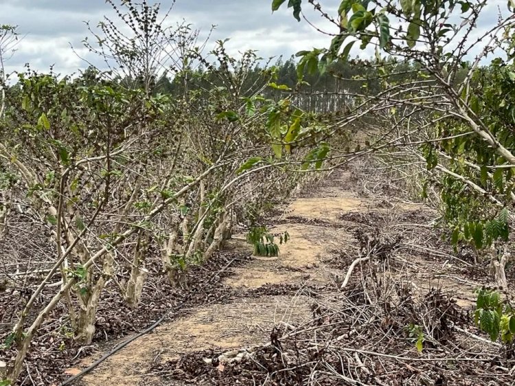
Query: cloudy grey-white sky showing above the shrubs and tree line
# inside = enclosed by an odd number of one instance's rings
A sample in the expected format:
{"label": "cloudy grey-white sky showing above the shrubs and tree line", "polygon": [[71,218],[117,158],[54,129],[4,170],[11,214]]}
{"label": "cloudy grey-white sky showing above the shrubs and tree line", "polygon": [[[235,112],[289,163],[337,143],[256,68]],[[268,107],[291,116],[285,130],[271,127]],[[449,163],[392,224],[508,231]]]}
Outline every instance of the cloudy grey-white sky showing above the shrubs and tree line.
{"label": "cloudy grey-white sky showing above the shrubs and tree line", "polygon": [[[168,8],[171,1],[161,0],[162,8]],[[265,58],[279,55],[288,58],[301,49],[327,45],[330,37],[317,32],[315,27],[327,30],[328,23],[323,22],[307,1],[304,14],[314,25],[304,21],[297,23],[286,7],[272,14],[271,2],[176,0],[169,22],[185,20],[200,29],[204,36],[211,25],[217,25],[213,43],[216,39],[230,38],[227,47],[231,53],[256,49]],[[339,1],[324,0],[321,3],[332,10]],[[501,4],[505,8],[504,0],[489,0],[488,12],[479,23],[480,30],[494,25]],[[95,62],[82,48],[82,40],[89,35],[84,21],[97,25],[104,15],[113,16],[111,7],[104,0],[0,0],[0,10],[0,25],[18,25],[19,32],[25,35],[7,63],[8,71],[22,69],[24,63],[41,71],[54,65],[60,73],[87,67],[73,54],[71,46],[78,54]]]}

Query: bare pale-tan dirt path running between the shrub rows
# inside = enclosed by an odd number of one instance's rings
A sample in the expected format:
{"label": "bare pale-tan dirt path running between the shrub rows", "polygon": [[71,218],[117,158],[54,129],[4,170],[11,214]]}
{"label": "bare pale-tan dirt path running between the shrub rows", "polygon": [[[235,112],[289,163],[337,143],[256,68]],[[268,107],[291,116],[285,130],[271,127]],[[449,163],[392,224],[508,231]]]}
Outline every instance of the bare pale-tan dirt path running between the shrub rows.
{"label": "bare pale-tan dirt path running between the shrub rows", "polygon": [[[282,245],[279,258],[254,258],[248,264],[233,269],[233,275],[225,279],[225,284],[235,292],[271,284],[323,285],[341,274],[322,260],[330,251],[345,247],[345,240],[350,241],[349,235],[336,223],[334,227],[326,227],[310,220],[336,222],[341,214],[361,207],[362,202],[350,192],[340,192],[337,188],[327,192],[339,195],[298,198],[284,210],[279,220],[287,223],[271,229],[277,233],[287,230],[291,237]],[[299,223],[295,221],[297,217],[302,219]],[[294,220],[289,221],[288,218]],[[154,333],[130,343],[84,376],[82,382],[91,386],[147,384],[148,378],[152,377],[149,369],[156,361],[170,361],[200,350],[259,345],[268,339],[273,326],[282,323],[298,326],[308,320],[311,304],[310,297],[297,293],[252,295],[238,297],[228,304],[192,310],[190,315],[165,323]],[[83,361],[82,365],[89,363]]]}

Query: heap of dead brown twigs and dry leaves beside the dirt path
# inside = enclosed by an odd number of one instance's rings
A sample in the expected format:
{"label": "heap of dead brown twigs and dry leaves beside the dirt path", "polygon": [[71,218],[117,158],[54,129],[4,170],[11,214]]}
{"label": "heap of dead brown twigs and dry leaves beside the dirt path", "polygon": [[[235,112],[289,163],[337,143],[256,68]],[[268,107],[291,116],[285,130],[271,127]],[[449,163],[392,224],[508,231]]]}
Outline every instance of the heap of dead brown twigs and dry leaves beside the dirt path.
{"label": "heap of dead brown twigs and dry leaves beside the dirt path", "polygon": [[279,323],[260,346],[194,352],[149,374],[196,385],[512,384],[515,362],[474,333],[469,310],[441,288],[420,293],[393,273],[400,238],[379,231],[356,238],[369,260],[341,291],[313,298],[309,321]]}

